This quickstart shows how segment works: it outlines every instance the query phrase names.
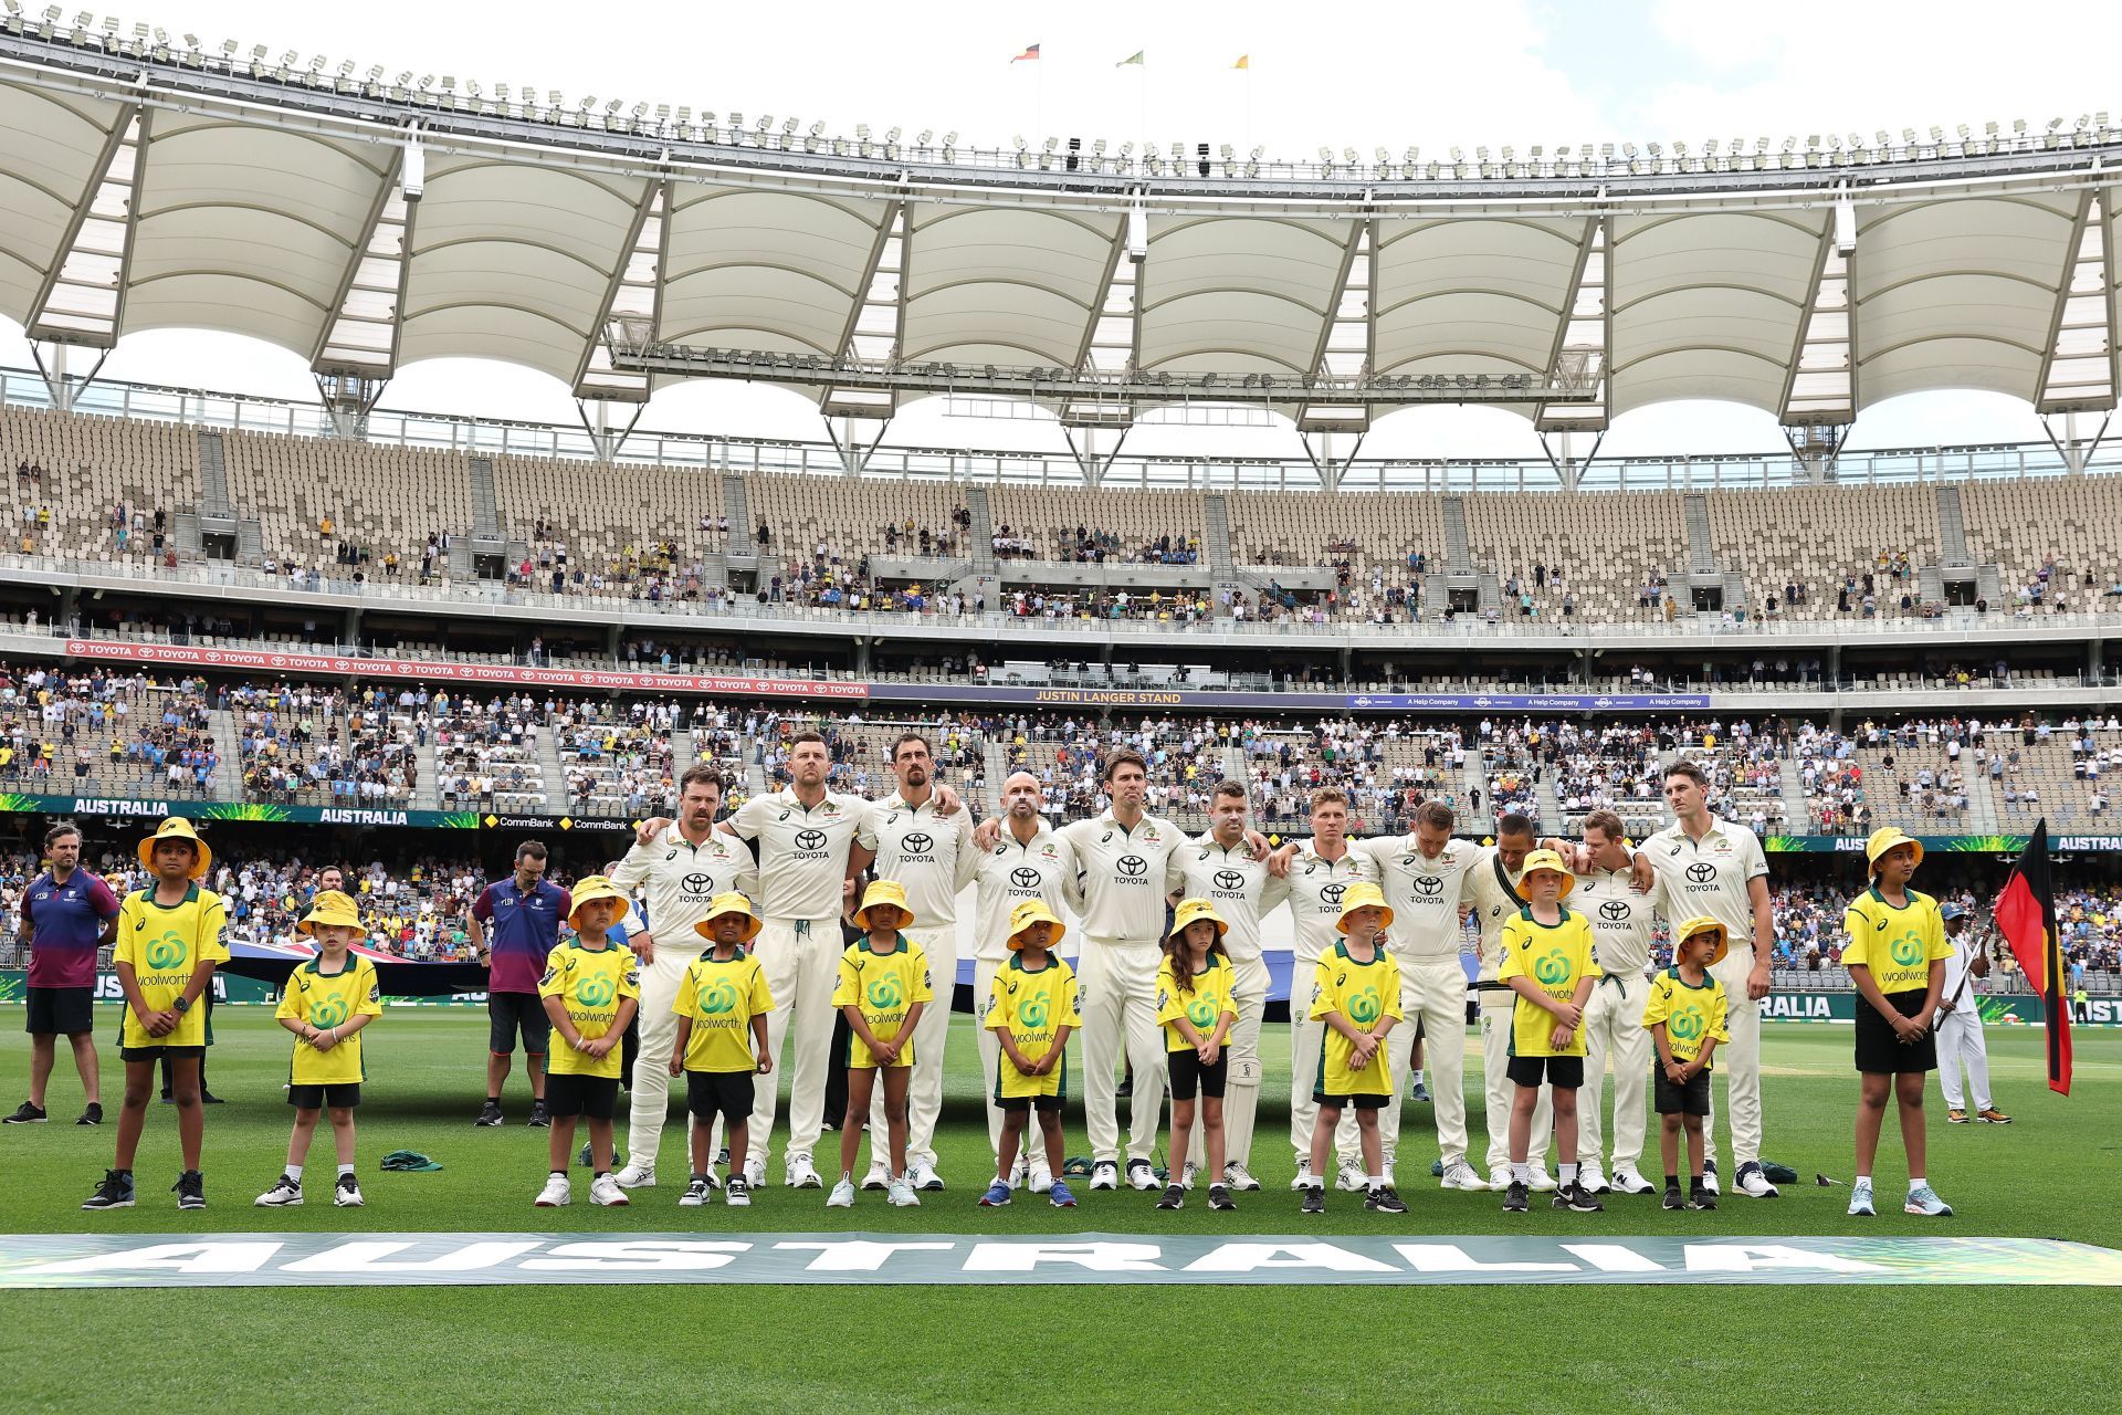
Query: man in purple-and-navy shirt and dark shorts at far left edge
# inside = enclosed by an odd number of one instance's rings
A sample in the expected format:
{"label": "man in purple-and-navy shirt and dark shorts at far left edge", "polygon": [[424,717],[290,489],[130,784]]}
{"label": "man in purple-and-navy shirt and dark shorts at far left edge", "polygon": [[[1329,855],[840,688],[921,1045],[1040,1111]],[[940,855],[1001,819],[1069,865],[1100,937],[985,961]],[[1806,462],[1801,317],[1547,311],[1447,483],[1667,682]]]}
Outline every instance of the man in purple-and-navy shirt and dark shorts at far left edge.
{"label": "man in purple-and-navy shirt and dark shorts at far left edge", "polygon": [[21,891],[21,933],[30,940],[30,1099],[6,1124],[40,1124],[45,1082],[66,1033],[89,1107],[74,1124],[102,1124],[102,1078],[95,1069],[95,950],[117,936],[119,899],[91,870],[81,870],[81,829],[59,821],[45,832],[51,870]]}

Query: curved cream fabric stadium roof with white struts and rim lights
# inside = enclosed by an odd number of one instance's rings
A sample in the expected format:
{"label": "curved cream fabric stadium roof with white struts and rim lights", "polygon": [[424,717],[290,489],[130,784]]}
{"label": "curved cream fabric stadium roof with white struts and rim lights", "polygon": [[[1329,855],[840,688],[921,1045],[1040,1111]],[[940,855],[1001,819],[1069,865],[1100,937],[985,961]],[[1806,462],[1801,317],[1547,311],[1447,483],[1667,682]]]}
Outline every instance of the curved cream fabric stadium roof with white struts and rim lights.
{"label": "curved cream fabric stadium roof with white struts and rim lights", "polygon": [[[0,314],[34,339],[219,329],[318,373],[499,359],[594,399],[709,371],[857,414],[1029,388],[1123,424],[1171,399],[1314,429],[1490,401],[1543,431],[1668,399],[1789,426],[1931,388],[2116,403],[2105,117],[1263,168],[624,119],[42,30],[0,32]],[[615,367],[615,322],[662,356]]]}

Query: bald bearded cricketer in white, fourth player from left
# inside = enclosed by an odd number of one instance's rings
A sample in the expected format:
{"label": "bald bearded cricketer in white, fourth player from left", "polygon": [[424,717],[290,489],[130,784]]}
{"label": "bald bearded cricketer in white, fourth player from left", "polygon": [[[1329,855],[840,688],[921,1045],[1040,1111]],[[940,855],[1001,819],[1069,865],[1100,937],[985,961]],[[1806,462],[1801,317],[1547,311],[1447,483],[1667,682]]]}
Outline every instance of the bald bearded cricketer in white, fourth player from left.
{"label": "bald bearded cricketer in white, fourth player from left", "polygon": [[[1010,912],[1027,899],[1038,899],[1061,916],[1063,904],[1069,910],[1082,908],[1076,889],[1076,846],[1048,827],[1046,793],[1031,772],[1012,772],[1002,783],[1002,829],[993,842],[980,851],[970,846],[978,861],[980,889],[974,895],[978,938],[974,940],[972,995],[980,1012],[980,1095],[987,1097],[987,1143],[1002,1156],[1002,1107],[995,1103],[995,1078],[1002,1059],[1002,1042],[987,1029],[987,1008],[995,991],[995,974],[1010,965]],[[919,1061],[919,1052],[917,1052]],[[1031,1192],[1053,1190],[1055,1177],[1046,1165],[1044,1146],[1033,1150],[1029,1163],[1019,1154],[1014,1180],[1029,1177]]]}

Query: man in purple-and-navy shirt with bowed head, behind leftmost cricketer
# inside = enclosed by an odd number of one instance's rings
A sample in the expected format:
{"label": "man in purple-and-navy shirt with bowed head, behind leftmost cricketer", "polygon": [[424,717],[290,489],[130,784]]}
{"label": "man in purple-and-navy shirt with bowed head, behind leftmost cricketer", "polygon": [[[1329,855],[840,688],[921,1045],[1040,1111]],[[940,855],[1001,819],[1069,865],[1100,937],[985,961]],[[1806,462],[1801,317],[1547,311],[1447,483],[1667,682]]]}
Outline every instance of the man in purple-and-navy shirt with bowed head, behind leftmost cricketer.
{"label": "man in purple-and-navy shirt with bowed head, behind leftmost cricketer", "polygon": [[509,1080],[509,1059],[522,1037],[524,1071],[530,1073],[530,1124],[543,1129],[545,1048],[552,1020],[539,1001],[537,980],[545,959],[560,944],[560,921],[573,895],[545,880],[545,846],[524,840],[516,846],[516,874],[488,885],[471,906],[471,946],[486,965],[486,1105],[473,1124],[501,1124],[501,1086]]}

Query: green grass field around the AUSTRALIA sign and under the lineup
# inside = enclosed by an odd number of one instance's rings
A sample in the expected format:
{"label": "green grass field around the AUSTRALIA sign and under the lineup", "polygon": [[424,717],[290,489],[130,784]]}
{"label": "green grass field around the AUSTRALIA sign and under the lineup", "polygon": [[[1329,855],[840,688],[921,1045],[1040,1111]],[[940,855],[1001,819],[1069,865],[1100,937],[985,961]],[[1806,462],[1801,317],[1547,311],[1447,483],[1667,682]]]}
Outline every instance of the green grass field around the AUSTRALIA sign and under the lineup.
{"label": "green grass field around the AUSTRALIA sign and under the lineup", "polygon": [[[115,1023],[100,1010],[98,1023]],[[2048,1095],[2039,1035],[1990,1029],[1999,1103],[2018,1124],[1948,1126],[1933,1088],[1931,1180],[1954,1205],[1952,1220],[1899,1213],[1903,1165],[1897,1133],[1880,1146],[1882,1213],[1869,1226],[1844,1216],[1846,1190],[1812,1186],[1814,1171],[1850,1177],[1850,1033],[1819,1025],[1766,1029],[1768,1156],[1804,1175],[1774,1203],[1725,1199],[1715,1213],[1664,1213],[1655,1199],[1611,1196],[1604,1213],[1555,1213],[1538,1203],[1511,1220],[1490,1194],[1447,1194],[1428,1177],[1434,1146],[1428,1107],[1411,1105],[1401,1143],[1405,1218],[1364,1213],[1333,1196],[1324,1220],[1301,1222],[1284,1188],[1292,1173],[1284,1031],[1269,1029],[1269,1080],[1254,1143],[1267,1186],[1237,1213],[1188,1207],[1154,1211],[1150,1194],[1086,1194],[1055,1211],[1019,1201],[974,1207],[987,1177],[978,1065],[966,1018],[955,1018],[940,1169],[949,1192],[919,1209],[891,1209],[862,1194],[853,1213],[828,1213],[821,1192],[770,1184],[749,1213],[721,1205],[679,1209],[677,1129],[664,1139],[664,1184],[634,1194],[630,1209],[575,1205],[533,1209],[545,1171],[545,1133],[522,1124],[522,1078],[505,1103],[509,1124],[471,1126],[482,1093],[484,1014],[397,1010],[369,1031],[369,1103],[361,1112],[361,1184],[367,1209],[329,1205],[331,1148],[310,1154],[310,1205],[250,1207],[284,1158],[291,1110],[280,1082],[286,1033],[263,1010],[214,1018],[214,1090],[229,1105],[208,1112],[210,1209],[180,1216],[166,1192],[176,1177],[174,1112],[155,1107],[140,1152],[140,1207],[91,1216],[79,1209],[110,1163],[112,1131],[66,1124],[79,1084],[62,1052],[51,1086],[55,1124],[0,1129],[0,1228],[11,1233],[236,1233],[236,1230],[832,1230],[879,1233],[1364,1233],[1479,1235],[1833,1235],[1952,1233],[2058,1237],[2122,1245],[2122,1222],[2105,1207],[2122,1152],[2122,1035],[2077,1035],[2077,1095]],[[0,1101],[11,1110],[28,1076],[21,1010],[0,1008]],[[104,1101],[115,1110],[115,1054]],[[1468,1048],[1468,1095],[1479,1129],[1479,1050]],[[1069,1152],[1086,1150],[1082,1116],[1067,1116]],[[624,1139],[624,1126],[622,1126]],[[821,1146],[819,1169],[828,1167]],[[441,1173],[386,1175],[386,1150],[422,1150]],[[1655,1131],[1653,1131],[1655,1156]],[[1727,1160],[1729,1169],[1729,1160]],[[1647,1163],[1655,1171],[1655,1158]],[[1538,1199],[1538,1196],[1536,1196]],[[1687,1305],[1693,1317],[1676,1322]],[[1710,1404],[1782,1407],[1799,1400],[1886,1409],[1993,1404],[2024,1383],[2109,1349],[2122,1294],[2082,1288],[363,1288],[151,1290],[0,1294],[0,1409],[108,1409],[123,1398],[146,1409],[248,1411],[291,1400],[346,1407],[363,1400],[314,1383],[293,1390],[284,1356],[299,1345],[363,1353],[350,1377],[384,1385],[384,1407],[522,1411],[626,1400],[628,1409],[995,1409],[1008,1381],[1091,1409],[1156,1409],[1212,1400],[1224,1409],[1364,1400],[1384,1409],[1445,1400],[1454,1409],[1608,1409],[1693,1392]],[[153,1360],[134,1360],[138,1332],[159,1337]],[[879,1334],[885,1339],[879,1341]],[[1188,1368],[1184,1394],[1161,1392],[1180,1343],[1227,1353]],[[1530,1345],[1528,1345],[1530,1343]],[[1534,1353],[1536,1347],[1536,1353]],[[609,1356],[598,1379],[588,1351]],[[47,1360],[79,1351],[81,1360]],[[1908,1385],[1912,1370],[1923,1370]],[[83,1373],[93,1370],[93,1377]],[[997,1375],[999,1370],[999,1375]],[[119,1375],[121,1373],[121,1375]],[[1568,1373],[1562,1379],[1562,1373]],[[550,1385],[547,1385],[547,1375]],[[117,1383],[115,1383],[117,1381]],[[1205,1385],[1203,1385],[1205,1381]],[[537,1392],[530,1396],[528,1392]],[[1740,1394],[1744,1392],[1744,1394]],[[2090,1396],[2099,1402],[2097,1396]]]}

